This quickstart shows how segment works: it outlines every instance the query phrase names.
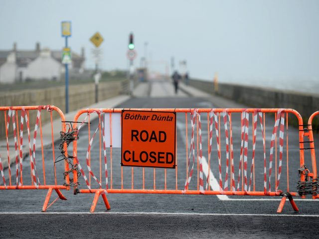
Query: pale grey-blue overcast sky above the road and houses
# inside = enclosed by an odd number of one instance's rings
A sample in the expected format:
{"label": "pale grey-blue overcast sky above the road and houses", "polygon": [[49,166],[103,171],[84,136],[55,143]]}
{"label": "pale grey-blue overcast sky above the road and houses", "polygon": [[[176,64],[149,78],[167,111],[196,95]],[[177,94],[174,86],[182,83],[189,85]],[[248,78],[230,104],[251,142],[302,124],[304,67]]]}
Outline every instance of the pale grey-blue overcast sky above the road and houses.
{"label": "pale grey-blue overcast sky above the road and houses", "polygon": [[102,68],[126,69],[133,31],[136,65],[147,41],[149,58],[185,59],[192,77],[319,79],[318,0],[0,0],[0,49],[61,49],[62,20],[72,21],[69,45],[85,47],[89,68],[99,31]]}

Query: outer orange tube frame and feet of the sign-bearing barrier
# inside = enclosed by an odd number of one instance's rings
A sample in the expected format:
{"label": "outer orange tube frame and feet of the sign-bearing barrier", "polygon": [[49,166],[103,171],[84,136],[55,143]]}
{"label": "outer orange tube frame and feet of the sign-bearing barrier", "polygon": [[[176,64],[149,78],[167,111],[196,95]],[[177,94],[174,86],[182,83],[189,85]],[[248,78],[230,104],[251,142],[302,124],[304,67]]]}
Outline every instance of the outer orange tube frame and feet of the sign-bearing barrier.
{"label": "outer orange tube frame and feet of the sign-bearing barrier", "polygon": [[[122,110],[132,110],[132,111],[154,111],[154,112],[175,112],[175,113],[193,113],[195,109],[162,109],[162,108],[158,108],[158,109],[135,109],[135,108],[123,108],[123,109],[83,109],[77,112],[77,114],[74,117],[74,124],[73,124],[73,128],[77,128],[77,122],[79,117],[82,114],[91,114],[91,113],[122,113]],[[209,113],[211,112],[212,109],[210,108],[206,108],[206,109],[196,109],[196,111],[198,113]],[[230,113],[242,113],[243,111],[247,112],[247,113],[254,113],[254,112],[261,112],[263,113],[263,115],[265,116],[265,113],[278,113],[278,111],[282,111],[283,113],[291,113],[293,115],[295,115],[298,119],[299,122],[299,147],[300,147],[300,165],[304,165],[304,131],[303,131],[303,119],[301,117],[301,115],[293,110],[293,109],[280,109],[280,108],[274,108],[274,109],[240,109],[240,108],[236,108],[236,109],[213,109],[215,113],[223,113],[223,112],[230,112]],[[187,118],[186,118],[187,119]],[[265,117],[264,117],[265,120]],[[220,120],[219,120],[220,123]],[[219,127],[220,129],[220,127]],[[186,126],[186,130],[187,130],[187,126]],[[264,129],[265,130],[265,129]],[[187,145],[187,144],[186,144]],[[73,155],[77,155],[77,141],[73,141]],[[196,160],[195,160],[196,161]],[[76,163],[76,160],[74,159],[74,163]],[[187,163],[187,160],[186,160]],[[78,181],[77,178],[77,173],[74,171],[73,172],[73,178],[74,178],[74,182]],[[305,175],[301,175],[301,181],[305,181]],[[112,177],[111,177],[112,180]],[[277,183],[277,182],[276,182]],[[294,208],[295,211],[298,211],[297,206],[295,207],[295,203],[292,199],[293,196],[298,196],[298,193],[296,192],[287,192],[287,193],[283,193],[282,191],[274,191],[274,192],[264,192],[264,191],[212,191],[212,190],[207,190],[204,192],[200,192],[199,190],[170,190],[170,189],[123,189],[123,184],[122,184],[122,188],[121,189],[113,189],[112,187],[110,189],[78,189],[77,185],[74,186],[74,194],[78,194],[78,193],[94,193],[95,197],[91,206],[91,210],[90,212],[94,212],[95,211],[95,207],[98,201],[98,198],[100,195],[102,195],[103,200],[105,202],[106,208],[108,210],[110,210],[110,205],[106,199],[106,195],[105,193],[148,193],[148,194],[204,194],[204,195],[238,195],[238,196],[243,196],[243,195],[248,195],[248,196],[283,196],[285,197],[285,199],[287,197],[289,197],[290,202]],[[287,196],[288,195],[288,196]],[[305,197],[302,197],[305,198]],[[282,210],[284,204],[285,204],[286,200],[282,200],[281,204],[279,206],[279,209]],[[278,209],[278,213],[281,212],[281,210]]]}

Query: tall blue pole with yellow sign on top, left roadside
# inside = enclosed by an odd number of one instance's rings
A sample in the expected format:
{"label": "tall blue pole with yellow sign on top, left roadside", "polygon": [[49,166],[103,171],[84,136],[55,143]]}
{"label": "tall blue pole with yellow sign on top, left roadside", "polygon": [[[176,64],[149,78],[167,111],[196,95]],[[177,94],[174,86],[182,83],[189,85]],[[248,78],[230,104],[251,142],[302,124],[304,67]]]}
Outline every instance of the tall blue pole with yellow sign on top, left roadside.
{"label": "tall blue pole with yellow sign on top, left roadside", "polygon": [[68,37],[71,36],[71,21],[61,22],[61,35],[65,37],[65,47],[62,53],[62,64],[65,65],[65,113],[69,113],[69,69],[71,64],[71,49],[68,48]]}

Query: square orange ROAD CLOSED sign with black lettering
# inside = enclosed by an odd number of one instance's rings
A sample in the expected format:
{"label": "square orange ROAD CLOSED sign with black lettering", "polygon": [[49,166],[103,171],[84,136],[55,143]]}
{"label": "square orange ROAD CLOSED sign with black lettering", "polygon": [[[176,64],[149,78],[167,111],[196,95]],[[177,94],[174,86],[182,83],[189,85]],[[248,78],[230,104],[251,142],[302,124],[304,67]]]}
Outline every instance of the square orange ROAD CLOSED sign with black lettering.
{"label": "square orange ROAD CLOSED sign with black lettering", "polygon": [[122,111],[122,166],[175,168],[175,112]]}

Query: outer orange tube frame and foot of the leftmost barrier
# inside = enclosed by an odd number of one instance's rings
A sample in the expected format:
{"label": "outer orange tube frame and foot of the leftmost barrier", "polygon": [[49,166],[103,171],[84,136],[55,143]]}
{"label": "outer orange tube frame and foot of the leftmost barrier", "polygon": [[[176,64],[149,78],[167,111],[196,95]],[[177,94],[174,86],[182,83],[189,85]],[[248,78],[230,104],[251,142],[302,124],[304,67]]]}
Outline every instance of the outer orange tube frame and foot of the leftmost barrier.
{"label": "outer orange tube frame and foot of the leftmost barrier", "polygon": [[[66,131],[66,123],[65,123],[65,116],[63,114],[63,112],[58,108],[58,107],[55,107],[55,106],[12,106],[12,107],[0,107],[0,112],[6,112],[8,110],[12,110],[12,111],[22,111],[22,110],[25,110],[25,111],[33,111],[33,110],[47,110],[47,111],[55,111],[59,114],[60,118],[61,118],[61,124],[62,124],[62,131],[65,132]],[[16,117],[17,117],[18,114],[16,114]],[[28,117],[28,120],[30,120],[29,118],[29,115],[28,115],[28,112],[27,112],[27,117]],[[6,121],[6,118],[5,118],[5,121]],[[40,121],[41,122],[41,121]],[[54,138],[53,138],[53,122],[52,122],[52,115],[51,115],[51,130],[52,130],[52,144],[54,145]],[[18,125],[18,121],[16,122],[16,124]],[[27,125],[29,127],[29,130],[30,130],[30,126]],[[31,133],[31,132],[30,132]],[[41,134],[41,151],[42,151],[42,147],[43,147],[43,142],[42,142],[42,125],[40,125],[40,134]],[[6,135],[6,137],[8,137],[8,135]],[[67,145],[66,143],[64,143],[63,145],[64,147],[64,151],[65,151],[65,156],[67,156]],[[24,153],[24,154],[27,154],[27,153]],[[23,158],[23,156],[22,156]],[[10,162],[11,164],[11,162]],[[55,170],[55,167],[54,167],[54,170]],[[69,165],[68,163],[64,160],[64,170],[65,171],[68,171],[69,170]],[[11,175],[10,175],[11,176]],[[45,178],[45,177],[44,177]],[[45,179],[44,179],[45,180]],[[55,181],[56,182],[56,181]],[[65,183],[66,185],[69,185],[70,183],[70,177],[69,175],[66,175],[65,177]],[[45,197],[45,200],[44,200],[44,204],[43,204],[43,207],[42,207],[42,212],[45,212],[47,210],[47,208],[49,208],[57,199],[61,199],[61,200],[67,200],[62,192],[60,190],[70,190],[70,186],[65,186],[65,185],[37,185],[35,186],[33,184],[33,181],[32,181],[32,185],[22,185],[22,186],[12,186],[12,185],[9,185],[9,186],[0,186],[0,190],[34,190],[34,189],[46,189],[48,190],[47,192],[47,195]],[[50,197],[51,197],[51,193],[52,191],[55,191],[58,195],[58,197],[48,206],[48,203],[50,201]]]}

